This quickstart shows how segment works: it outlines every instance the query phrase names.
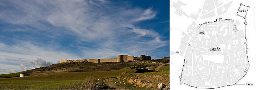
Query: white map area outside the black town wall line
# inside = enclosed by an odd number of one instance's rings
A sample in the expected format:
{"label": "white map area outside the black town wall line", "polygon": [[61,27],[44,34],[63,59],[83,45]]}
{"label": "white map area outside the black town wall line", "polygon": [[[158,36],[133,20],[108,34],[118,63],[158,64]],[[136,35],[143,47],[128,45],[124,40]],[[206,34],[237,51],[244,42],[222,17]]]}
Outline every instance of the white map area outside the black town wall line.
{"label": "white map area outside the black town wall line", "polygon": [[[185,5],[181,5],[179,7],[179,11],[176,11],[176,6],[173,6],[173,3],[177,3],[178,1],[183,2]],[[253,83],[252,86],[246,85],[232,85],[232,86],[224,86],[222,88],[217,88],[215,90],[255,90],[256,86],[256,0],[221,0],[223,4],[219,7],[224,6],[230,2],[231,6],[229,8],[222,8],[223,11],[227,10],[224,14],[218,15],[217,8],[214,8],[212,11],[215,12],[215,16],[211,16],[209,18],[204,18],[203,7],[205,1],[209,0],[171,0],[170,1],[170,89],[172,90],[198,90],[197,88],[190,87],[185,84],[180,84],[179,76],[183,67],[183,57],[176,54],[176,51],[180,50],[180,41],[182,36],[182,32],[187,32],[188,27],[194,21],[196,25],[200,23],[204,23],[205,21],[214,21],[218,18],[223,19],[232,19],[232,17],[237,18],[235,15],[240,4],[244,4],[246,6],[250,6],[247,13],[247,26],[246,26],[246,36],[248,40],[248,59],[250,63],[250,68],[247,74],[237,83],[237,84],[245,84],[245,83]],[[216,0],[213,0],[216,1]],[[201,9],[201,11],[199,10]],[[181,10],[181,11],[180,11]],[[198,18],[195,19],[191,16],[198,14]]]}

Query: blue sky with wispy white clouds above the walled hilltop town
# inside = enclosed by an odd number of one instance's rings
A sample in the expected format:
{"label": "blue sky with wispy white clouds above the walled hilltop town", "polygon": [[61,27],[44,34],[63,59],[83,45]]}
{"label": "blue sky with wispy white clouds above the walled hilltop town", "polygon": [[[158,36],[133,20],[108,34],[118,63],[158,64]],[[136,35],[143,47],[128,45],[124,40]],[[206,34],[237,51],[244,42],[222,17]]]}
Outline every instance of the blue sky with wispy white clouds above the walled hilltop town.
{"label": "blue sky with wispy white clouds above the walled hilltop town", "polygon": [[118,54],[169,56],[169,0],[0,0],[0,74]]}

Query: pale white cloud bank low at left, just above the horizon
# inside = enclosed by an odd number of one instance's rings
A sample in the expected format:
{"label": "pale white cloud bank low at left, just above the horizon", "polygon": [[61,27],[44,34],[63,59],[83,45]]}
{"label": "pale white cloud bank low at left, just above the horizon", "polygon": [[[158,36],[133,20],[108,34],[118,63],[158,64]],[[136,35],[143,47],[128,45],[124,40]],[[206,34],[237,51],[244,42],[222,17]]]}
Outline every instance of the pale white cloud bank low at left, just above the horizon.
{"label": "pale white cloud bank low at left, just above the horizon", "polygon": [[[53,46],[36,46],[29,42],[20,42],[17,45],[9,46],[4,43],[0,43],[0,64],[2,63],[0,68],[3,70],[13,68],[16,71],[23,71],[50,65],[51,62],[58,62],[61,59],[82,58],[72,53],[54,50],[53,48]],[[44,60],[38,60],[37,58],[42,58]]]}

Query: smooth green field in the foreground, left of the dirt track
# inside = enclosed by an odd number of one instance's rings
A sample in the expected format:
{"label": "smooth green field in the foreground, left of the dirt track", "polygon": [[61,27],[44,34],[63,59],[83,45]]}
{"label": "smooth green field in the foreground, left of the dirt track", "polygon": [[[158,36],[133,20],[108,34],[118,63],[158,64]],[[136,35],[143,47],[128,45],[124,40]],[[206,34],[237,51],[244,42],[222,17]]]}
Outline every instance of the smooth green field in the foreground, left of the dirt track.
{"label": "smooth green field in the foreground, left of the dirt track", "polygon": [[67,72],[28,77],[0,78],[0,89],[79,89],[78,86],[86,78],[116,77],[123,71],[133,73],[136,70]]}

